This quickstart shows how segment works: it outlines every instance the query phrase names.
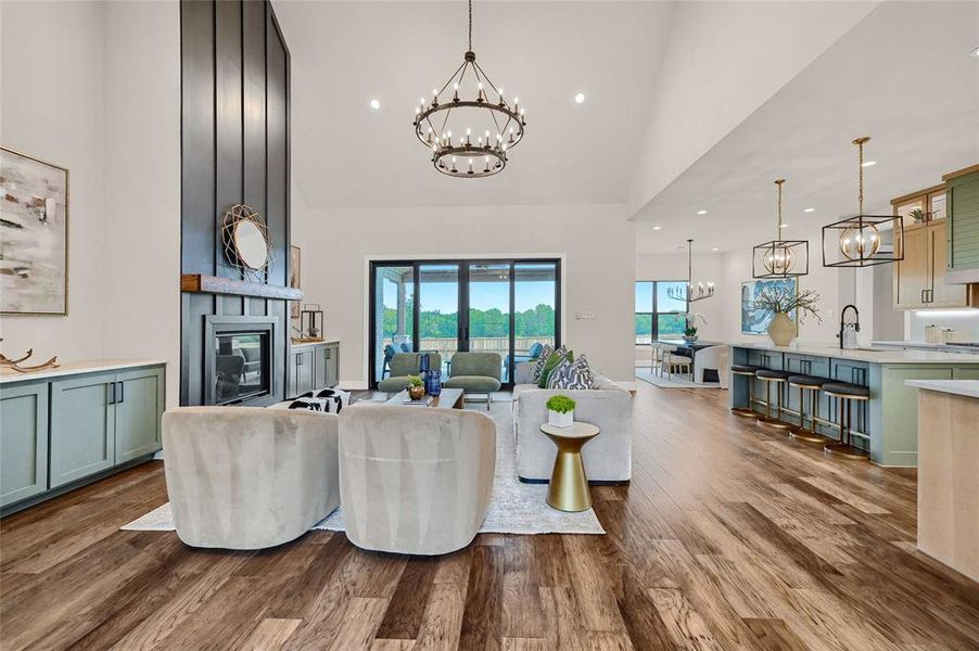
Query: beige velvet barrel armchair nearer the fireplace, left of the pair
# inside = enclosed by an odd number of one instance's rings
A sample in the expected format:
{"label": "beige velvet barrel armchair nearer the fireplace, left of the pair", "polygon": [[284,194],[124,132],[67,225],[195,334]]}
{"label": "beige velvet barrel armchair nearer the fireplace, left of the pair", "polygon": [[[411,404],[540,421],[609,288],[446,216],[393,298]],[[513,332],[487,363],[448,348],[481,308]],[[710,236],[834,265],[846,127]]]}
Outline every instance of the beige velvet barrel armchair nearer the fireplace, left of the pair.
{"label": "beige velvet barrel armchair nearer the fireplace, left of the pair", "polygon": [[340,506],[338,430],[333,413],[168,409],[164,471],[177,535],[223,549],[298,538]]}

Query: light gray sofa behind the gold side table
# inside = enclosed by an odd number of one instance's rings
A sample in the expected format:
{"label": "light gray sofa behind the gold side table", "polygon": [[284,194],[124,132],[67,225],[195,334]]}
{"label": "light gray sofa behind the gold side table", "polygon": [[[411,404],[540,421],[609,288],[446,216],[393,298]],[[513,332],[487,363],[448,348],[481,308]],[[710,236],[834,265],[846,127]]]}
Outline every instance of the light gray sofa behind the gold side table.
{"label": "light gray sofa behind the gold side table", "polygon": [[574,420],[598,425],[601,433],[585,445],[582,456],[589,483],[627,484],[632,480],[632,394],[593,371],[590,390],[538,388],[533,362],[517,365],[513,386],[513,426],[517,434],[517,474],[522,482],[548,482],[557,447],[541,432],[547,422],[547,400],[555,395],[574,399]]}

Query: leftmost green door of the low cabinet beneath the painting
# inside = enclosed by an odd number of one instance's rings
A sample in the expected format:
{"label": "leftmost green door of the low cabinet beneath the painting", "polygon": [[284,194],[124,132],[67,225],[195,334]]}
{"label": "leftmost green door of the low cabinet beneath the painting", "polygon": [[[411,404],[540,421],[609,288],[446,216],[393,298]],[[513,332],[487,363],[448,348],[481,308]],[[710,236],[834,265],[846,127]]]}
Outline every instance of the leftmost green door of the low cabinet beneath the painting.
{"label": "leftmost green door of the low cabinet beneath the painting", "polygon": [[0,390],[0,507],[48,489],[48,383]]}

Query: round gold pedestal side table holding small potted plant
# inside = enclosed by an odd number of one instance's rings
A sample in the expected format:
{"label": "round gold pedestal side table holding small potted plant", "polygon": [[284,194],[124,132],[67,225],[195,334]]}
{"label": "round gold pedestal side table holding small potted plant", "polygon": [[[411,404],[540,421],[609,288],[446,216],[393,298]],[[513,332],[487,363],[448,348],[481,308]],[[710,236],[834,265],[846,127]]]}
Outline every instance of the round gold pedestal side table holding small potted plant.
{"label": "round gold pedestal side table holding small potted plant", "polygon": [[588,493],[582,448],[598,436],[600,430],[590,423],[574,423],[570,427],[544,423],[541,432],[558,446],[547,505],[559,511],[587,511],[592,508],[592,494]]}

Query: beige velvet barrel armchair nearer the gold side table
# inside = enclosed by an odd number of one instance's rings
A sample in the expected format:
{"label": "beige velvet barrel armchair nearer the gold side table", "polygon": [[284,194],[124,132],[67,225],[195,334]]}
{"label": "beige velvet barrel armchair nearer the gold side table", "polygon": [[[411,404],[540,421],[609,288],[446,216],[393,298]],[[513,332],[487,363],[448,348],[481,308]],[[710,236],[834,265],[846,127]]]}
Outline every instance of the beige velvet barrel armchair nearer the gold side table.
{"label": "beige velvet barrel armchair nearer the gold side table", "polygon": [[340,417],[346,536],[373,551],[441,554],[472,542],[486,516],[496,426],[482,413],[355,405]]}

